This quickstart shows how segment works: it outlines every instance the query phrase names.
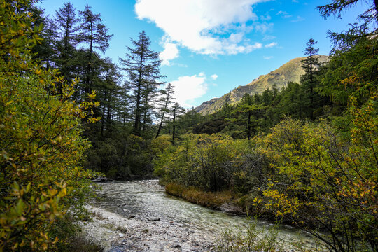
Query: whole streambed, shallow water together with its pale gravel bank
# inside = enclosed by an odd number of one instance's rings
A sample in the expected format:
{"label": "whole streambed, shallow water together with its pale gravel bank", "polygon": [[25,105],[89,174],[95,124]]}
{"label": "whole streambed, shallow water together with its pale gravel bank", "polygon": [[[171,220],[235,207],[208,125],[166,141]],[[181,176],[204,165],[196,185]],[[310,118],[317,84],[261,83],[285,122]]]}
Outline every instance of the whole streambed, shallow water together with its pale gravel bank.
{"label": "whole streambed, shallow water together with its pale gravel bank", "polygon": [[[167,195],[158,180],[101,183],[98,199],[88,207],[94,221],[84,223],[87,237],[105,251],[213,251],[223,230],[245,232],[244,216],[226,214]],[[258,230],[272,223],[257,221]],[[289,226],[279,228],[278,241],[286,251],[301,243],[316,251],[315,240]]]}

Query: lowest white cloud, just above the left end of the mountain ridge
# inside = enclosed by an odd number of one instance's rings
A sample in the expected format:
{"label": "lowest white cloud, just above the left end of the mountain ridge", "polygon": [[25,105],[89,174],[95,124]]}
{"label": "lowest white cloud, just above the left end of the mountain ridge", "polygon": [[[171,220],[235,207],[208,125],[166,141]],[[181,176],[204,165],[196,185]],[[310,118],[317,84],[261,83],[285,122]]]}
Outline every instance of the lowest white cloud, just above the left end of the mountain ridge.
{"label": "lowest white cloud, just above the left end of the mountain ridge", "polygon": [[186,108],[194,106],[194,99],[202,97],[207,92],[206,76],[201,73],[194,76],[181,76],[171,84],[174,86],[176,102]]}

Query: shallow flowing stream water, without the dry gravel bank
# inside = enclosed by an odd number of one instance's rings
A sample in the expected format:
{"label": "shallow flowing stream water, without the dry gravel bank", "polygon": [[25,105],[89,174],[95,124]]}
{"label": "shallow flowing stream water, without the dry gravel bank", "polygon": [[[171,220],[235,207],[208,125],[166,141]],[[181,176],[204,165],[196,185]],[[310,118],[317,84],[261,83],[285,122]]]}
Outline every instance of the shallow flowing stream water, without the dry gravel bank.
{"label": "shallow flowing stream water, without the dry gravel bank", "polygon": [[[135,221],[177,223],[189,233],[196,232],[196,235],[201,235],[206,232],[214,234],[214,238],[219,237],[225,229],[243,231],[249,222],[255,222],[244,216],[226,214],[167,195],[157,180],[113,181],[102,183],[101,186],[102,191],[99,191],[99,199],[93,202],[94,206],[128,219],[133,218]],[[269,222],[257,221],[260,230],[271,225]],[[312,237],[289,226],[279,228],[278,240],[284,244],[301,242],[311,251],[317,248]],[[290,245],[286,248],[290,248]]]}

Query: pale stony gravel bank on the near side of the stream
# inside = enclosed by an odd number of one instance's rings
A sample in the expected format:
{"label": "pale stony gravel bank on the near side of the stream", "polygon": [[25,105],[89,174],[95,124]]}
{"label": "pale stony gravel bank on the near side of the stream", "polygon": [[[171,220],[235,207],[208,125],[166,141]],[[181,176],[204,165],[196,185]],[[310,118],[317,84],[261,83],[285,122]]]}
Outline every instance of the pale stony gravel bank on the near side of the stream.
{"label": "pale stony gravel bank on the near side of the stream", "polygon": [[125,218],[94,206],[87,209],[93,218],[81,223],[83,233],[90,241],[101,244],[104,251],[211,251],[216,247],[218,236],[212,232],[198,232],[158,218]]}

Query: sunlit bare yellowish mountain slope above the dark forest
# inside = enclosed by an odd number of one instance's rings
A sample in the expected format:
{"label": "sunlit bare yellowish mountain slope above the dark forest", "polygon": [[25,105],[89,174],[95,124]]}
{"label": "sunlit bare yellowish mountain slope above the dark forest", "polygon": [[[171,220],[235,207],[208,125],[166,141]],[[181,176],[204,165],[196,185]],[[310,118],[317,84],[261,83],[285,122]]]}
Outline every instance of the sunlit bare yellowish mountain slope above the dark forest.
{"label": "sunlit bare yellowish mountain slope above the dark forest", "polygon": [[[328,60],[328,56],[321,55],[318,57],[319,62],[327,62]],[[209,115],[221,109],[226,102],[228,102],[228,104],[239,102],[245,93],[254,94],[256,92],[262,93],[267,89],[272,90],[274,84],[279,90],[281,90],[281,88],[286,86],[290,81],[299,83],[300,76],[304,73],[300,62],[302,59],[305,59],[305,57],[292,59],[279,67],[279,69],[259,76],[248,85],[239,86],[220,98],[214,98],[210,101],[203,102],[200,106],[197,106],[195,110],[203,115]]]}

